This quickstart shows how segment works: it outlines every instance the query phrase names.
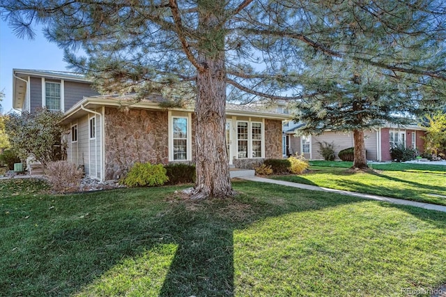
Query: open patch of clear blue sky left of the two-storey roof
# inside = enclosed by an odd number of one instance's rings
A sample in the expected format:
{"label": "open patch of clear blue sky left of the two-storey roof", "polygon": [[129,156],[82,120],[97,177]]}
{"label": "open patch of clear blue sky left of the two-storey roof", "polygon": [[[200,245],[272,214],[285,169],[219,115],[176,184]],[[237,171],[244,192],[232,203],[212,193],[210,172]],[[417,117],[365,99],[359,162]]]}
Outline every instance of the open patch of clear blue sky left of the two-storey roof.
{"label": "open patch of clear blue sky left of the two-storey roof", "polygon": [[0,20],[0,90],[6,97],[0,102],[3,114],[13,108],[13,68],[67,71],[63,50],[49,43],[41,29],[33,40],[20,39]]}

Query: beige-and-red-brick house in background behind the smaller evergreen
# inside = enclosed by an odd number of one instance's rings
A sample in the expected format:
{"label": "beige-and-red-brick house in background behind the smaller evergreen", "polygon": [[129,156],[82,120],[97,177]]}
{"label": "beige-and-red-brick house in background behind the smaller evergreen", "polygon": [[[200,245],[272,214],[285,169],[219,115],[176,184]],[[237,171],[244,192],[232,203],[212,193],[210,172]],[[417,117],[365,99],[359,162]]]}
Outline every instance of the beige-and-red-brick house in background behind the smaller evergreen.
{"label": "beige-and-red-brick house in background behind the smaller evergreen", "polygon": [[[328,142],[334,144],[334,155],[344,148],[354,146],[353,132],[326,131],[321,135],[300,135],[298,130],[303,124],[296,124],[293,128],[282,130],[286,148],[290,154],[303,153],[305,158],[323,160],[318,151],[319,143]],[[426,129],[418,125],[393,126],[388,125],[374,130],[365,130],[365,147],[367,160],[390,161],[390,148],[403,145],[407,148],[416,148],[420,153],[424,152],[424,139]]]}

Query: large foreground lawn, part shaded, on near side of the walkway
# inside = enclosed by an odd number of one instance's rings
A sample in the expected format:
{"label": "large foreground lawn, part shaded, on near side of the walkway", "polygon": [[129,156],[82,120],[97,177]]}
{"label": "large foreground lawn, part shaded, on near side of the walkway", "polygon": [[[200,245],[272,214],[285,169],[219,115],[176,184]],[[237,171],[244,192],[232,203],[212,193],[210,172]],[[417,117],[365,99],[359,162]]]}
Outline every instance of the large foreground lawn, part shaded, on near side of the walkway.
{"label": "large foreground lawn, part shaded, on near side of the walkway", "polygon": [[208,201],[4,183],[0,296],[405,296],[446,283],[446,213],[247,181]]}

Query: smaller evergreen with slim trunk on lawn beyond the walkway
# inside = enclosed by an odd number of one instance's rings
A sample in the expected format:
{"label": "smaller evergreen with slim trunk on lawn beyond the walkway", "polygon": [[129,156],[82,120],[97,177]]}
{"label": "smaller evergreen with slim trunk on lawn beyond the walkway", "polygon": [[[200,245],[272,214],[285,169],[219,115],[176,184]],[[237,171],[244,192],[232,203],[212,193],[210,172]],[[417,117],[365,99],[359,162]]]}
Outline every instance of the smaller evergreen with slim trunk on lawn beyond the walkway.
{"label": "smaller evergreen with slim trunk on lawn beyond the walkway", "polygon": [[[353,132],[353,168],[367,168],[365,129],[413,123],[445,105],[444,81],[420,75],[444,69],[444,43],[438,40],[443,24],[429,22],[431,16],[419,8],[393,1],[366,8],[341,1],[315,12],[324,17],[316,17],[323,21],[314,23],[312,38],[330,47],[302,55],[309,67],[301,84],[313,96],[295,104],[295,121],[305,123],[300,129],[305,134]],[[375,14],[390,10],[393,17],[378,22]]]}

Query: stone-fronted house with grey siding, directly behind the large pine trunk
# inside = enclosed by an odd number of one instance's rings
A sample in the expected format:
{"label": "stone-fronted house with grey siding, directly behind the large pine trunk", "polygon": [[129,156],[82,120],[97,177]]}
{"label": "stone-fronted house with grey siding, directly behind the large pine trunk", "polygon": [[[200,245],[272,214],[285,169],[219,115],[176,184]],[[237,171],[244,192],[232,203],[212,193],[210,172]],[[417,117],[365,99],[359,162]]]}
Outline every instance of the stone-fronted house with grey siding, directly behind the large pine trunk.
{"label": "stone-fronted house with grey siding, directly behind the large pine trunk", "polygon": [[[72,73],[14,70],[14,77],[16,109],[47,106],[65,112],[67,159],[82,165],[87,176],[119,178],[134,162],[194,162],[193,107],[161,107],[165,100],[159,95],[139,102],[131,95],[94,96],[90,82]],[[229,164],[252,169],[265,158],[282,158],[286,120],[286,114],[227,104]]]}

